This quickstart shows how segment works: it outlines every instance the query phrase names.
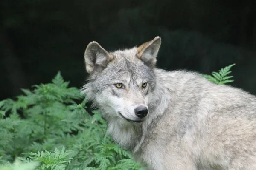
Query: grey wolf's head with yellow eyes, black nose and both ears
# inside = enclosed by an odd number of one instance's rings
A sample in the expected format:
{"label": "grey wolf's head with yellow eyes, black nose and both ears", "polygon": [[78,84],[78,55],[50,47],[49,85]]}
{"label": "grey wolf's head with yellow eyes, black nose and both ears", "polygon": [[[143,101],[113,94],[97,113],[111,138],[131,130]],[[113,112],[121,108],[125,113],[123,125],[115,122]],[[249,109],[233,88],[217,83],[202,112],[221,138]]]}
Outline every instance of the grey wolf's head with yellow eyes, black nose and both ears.
{"label": "grey wolf's head with yellow eyes, black nose and both ears", "polygon": [[154,66],[161,45],[155,37],[139,47],[108,52],[90,42],[84,59],[89,82],[82,93],[97,105],[105,118],[140,123],[149,113],[155,87]]}

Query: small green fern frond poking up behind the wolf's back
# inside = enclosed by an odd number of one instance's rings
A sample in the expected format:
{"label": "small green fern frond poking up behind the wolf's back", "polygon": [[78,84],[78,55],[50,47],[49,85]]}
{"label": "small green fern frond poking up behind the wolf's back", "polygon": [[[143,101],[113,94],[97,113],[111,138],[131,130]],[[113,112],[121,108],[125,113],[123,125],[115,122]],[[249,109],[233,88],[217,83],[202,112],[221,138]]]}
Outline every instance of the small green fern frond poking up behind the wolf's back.
{"label": "small green fern frond poking up behind the wolf's back", "polygon": [[232,71],[230,71],[230,68],[233,67],[234,65],[236,65],[236,64],[232,64],[225,68],[221,68],[221,70],[219,70],[218,73],[213,71],[212,75],[203,74],[203,76],[206,79],[210,80],[211,82],[220,84],[220,85],[234,82],[234,80],[230,80],[230,78],[232,78],[233,76],[228,76],[228,74],[230,74],[232,72]]}

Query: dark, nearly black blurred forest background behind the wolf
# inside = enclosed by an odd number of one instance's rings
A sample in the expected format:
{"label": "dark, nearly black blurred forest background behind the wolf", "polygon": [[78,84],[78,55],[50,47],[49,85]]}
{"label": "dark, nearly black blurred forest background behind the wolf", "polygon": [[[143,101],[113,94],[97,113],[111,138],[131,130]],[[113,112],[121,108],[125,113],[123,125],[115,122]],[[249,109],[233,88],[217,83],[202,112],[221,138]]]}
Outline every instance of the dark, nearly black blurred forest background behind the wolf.
{"label": "dark, nearly black blurred forest background behind the wolf", "polygon": [[157,66],[210,74],[256,94],[255,0],[1,0],[0,99],[48,83],[60,70],[80,88],[84,50],[130,48],[161,36]]}

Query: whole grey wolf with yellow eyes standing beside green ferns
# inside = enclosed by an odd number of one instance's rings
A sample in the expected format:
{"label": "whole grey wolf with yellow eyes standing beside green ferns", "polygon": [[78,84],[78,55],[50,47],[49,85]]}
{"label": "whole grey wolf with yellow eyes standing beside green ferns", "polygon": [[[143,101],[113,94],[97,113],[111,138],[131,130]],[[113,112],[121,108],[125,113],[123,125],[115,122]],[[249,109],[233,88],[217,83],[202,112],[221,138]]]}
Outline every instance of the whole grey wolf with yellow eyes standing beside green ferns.
{"label": "whole grey wolf with yellow eyes standing beside green ferns", "polygon": [[161,38],[108,52],[90,42],[81,89],[113,140],[148,170],[256,170],[256,96],[157,68]]}

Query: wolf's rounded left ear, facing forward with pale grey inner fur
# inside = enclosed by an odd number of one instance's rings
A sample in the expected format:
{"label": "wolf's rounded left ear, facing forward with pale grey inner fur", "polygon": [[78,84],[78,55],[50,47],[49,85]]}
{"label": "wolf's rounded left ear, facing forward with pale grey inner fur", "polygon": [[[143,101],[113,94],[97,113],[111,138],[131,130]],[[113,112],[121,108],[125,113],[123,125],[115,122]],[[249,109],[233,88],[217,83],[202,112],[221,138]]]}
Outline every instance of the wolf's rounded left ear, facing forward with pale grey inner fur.
{"label": "wolf's rounded left ear, facing forward with pale grey inner fur", "polygon": [[112,59],[108,51],[95,41],[90,42],[84,52],[85,67],[89,74],[102,71]]}

